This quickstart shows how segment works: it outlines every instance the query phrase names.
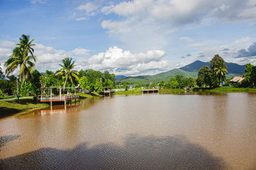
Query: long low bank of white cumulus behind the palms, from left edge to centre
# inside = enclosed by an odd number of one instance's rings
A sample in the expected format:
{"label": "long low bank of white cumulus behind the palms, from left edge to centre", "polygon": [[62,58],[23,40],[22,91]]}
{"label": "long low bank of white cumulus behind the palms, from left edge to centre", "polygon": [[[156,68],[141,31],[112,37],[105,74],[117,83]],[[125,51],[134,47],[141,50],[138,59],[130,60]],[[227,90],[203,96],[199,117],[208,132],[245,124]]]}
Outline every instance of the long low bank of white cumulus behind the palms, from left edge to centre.
{"label": "long low bank of white cumulus behind the palms, from left edge to centre", "polygon": [[[15,44],[11,41],[0,42],[0,59],[5,62]],[[72,51],[57,50],[52,46],[45,46],[36,43],[33,47],[36,55],[36,69],[45,71],[49,69],[56,71],[60,69],[58,64],[65,57],[72,57],[76,60],[76,69],[95,69],[97,71],[108,70],[115,74],[125,74],[127,76],[138,74],[156,74],[170,69],[170,64],[164,60],[163,50],[147,50],[143,53],[132,53],[124,51],[117,46],[110,47],[106,52],[90,56],[90,50],[85,48],[75,48]]]}

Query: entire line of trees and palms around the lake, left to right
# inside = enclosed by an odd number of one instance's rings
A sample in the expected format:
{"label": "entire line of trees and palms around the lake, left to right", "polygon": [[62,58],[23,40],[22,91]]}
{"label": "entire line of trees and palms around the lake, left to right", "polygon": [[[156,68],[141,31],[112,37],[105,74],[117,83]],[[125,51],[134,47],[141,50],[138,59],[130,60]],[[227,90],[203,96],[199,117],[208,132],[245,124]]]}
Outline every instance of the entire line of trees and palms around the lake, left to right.
{"label": "entire line of trees and palms around the lake, left to right", "polygon": [[[12,55],[4,62],[5,73],[0,67],[0,97],[4,94],[17,94],[17,101],[20,96],[38,96],[40,87],[76,87],[80,85],[82,89],[90,91],[99,91],[102,87],[115,88],[115,74],[109,71],[95,71],[86,69],[76,71],[76,61],[66,57],[61,60],[60,69],[55,73],[46,70],[40,73],[35,69],[36,57],[34,55],[33,43],[29,36],[22,34],[19,43],[13,49]],[[176,74],[170,81],[159,81],[157,83],[147,83],[136,85],[136,87],[150,88],[159,87],[159,89],[182,89],[184,87],[219,87],[222,82],[227,82],[227,66],[224,60],[217,54],[210,61],[210,67],[203,66],[199,69],[196,79],[186,78],[182,74]],[[18,70],[17,77],[12,75]],[[241,84],[243,87],[255,87],[256,85],[256,66],[246,64],[245,80]],[[128,89],[127,82],[119,82],[122,88]]]}

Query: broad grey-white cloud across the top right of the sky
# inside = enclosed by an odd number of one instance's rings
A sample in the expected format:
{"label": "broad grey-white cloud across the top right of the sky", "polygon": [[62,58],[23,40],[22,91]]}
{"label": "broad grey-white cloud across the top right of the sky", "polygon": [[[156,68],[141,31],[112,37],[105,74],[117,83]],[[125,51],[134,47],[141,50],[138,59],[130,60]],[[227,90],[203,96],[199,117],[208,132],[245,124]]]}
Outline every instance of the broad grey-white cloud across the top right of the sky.
{"label": "broad grey-white cloud across the top right of the sky", "polygon": [[[200,24],[204,20],[221,22],[256,22],[255,1],[239,0],[204,1],[204,0],[134,0],[104,6],[102,13],[114,13],[126,21],[147,22],[149,25],[179,26]],[[116,21],[113,21],[116,22]],[[132,26],[122,20],[122,24]],[[109,27],[108,29],[111,29]]]}

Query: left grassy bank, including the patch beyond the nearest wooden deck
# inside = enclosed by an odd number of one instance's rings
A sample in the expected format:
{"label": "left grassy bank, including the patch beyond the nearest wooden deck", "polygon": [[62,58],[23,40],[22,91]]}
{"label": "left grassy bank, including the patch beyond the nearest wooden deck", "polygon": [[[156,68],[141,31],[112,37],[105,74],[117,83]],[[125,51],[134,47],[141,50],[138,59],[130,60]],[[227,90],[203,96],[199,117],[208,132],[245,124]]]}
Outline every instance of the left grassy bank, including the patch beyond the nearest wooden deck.
{"label": "left grassy bank, including the patch beyond the nearest wooden deck", "polygon": [[[93,97],[99,97],[97,92],[91,94],[80,93],[80,99],[90,99]],[[72,101],[73,103],[74,101]],[[20,99],[19,103],[16,99],[0,101],[0,118],[15,115],[17,113],[25,113],[35,109],[47,108],[47,103],[37,103],[33,98]]]}

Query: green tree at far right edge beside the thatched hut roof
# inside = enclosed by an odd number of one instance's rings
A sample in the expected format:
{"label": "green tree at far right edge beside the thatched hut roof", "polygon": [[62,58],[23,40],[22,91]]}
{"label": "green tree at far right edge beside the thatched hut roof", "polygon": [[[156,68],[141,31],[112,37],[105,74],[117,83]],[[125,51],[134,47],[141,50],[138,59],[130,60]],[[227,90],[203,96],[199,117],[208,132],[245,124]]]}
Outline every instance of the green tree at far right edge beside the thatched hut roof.
{"label": "green tree at far right edge beside the thatched hut roof", "polygon": [[255,87],[256,85],[256,66],[248,63],[245,66],[245,80],[243,81],[243,85],[246,87]]}

